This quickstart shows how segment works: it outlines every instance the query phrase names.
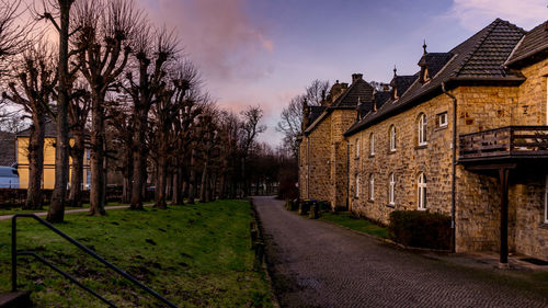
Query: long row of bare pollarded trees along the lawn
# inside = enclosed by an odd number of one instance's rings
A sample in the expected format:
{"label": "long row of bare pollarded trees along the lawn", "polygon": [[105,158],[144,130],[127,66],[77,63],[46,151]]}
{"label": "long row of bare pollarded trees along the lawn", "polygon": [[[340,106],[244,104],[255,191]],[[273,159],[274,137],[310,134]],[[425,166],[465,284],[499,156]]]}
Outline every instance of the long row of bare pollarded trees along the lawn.
{"label": "long row of bare pollarded trees along the lawn", "polygon": [[133,209],[142,209],[149,182],[158,208],[168,199],[250,193],[250,160],[264,152],[256,142],[263,112],[220,110],[173,31],[152,24],[130,0],[44,0],[31,8],[0,1],[2,102],[31,123],[25,208],[42,207],[48,123],[56,127],[49,221],[62,221],[66,205],[82,204],[87,149],[90,215],[105,213],[110,164],[119,166],[123,202]]}

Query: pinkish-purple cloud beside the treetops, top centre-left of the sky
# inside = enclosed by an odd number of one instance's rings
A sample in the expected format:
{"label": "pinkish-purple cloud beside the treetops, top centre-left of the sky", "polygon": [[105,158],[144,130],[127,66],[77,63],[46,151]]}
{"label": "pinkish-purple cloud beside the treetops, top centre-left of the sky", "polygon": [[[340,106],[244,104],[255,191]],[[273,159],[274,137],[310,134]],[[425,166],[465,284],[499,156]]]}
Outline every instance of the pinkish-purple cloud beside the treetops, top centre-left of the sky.
{"label": "pinkish-purple cloud beside the treetops, top centre-left of the sky", "polygon": [[184,52],[208,80],[255,79],[270,73],[274,50],[265,28],[246,12],[247,0],[140,0],[149,16],[178,31]]}

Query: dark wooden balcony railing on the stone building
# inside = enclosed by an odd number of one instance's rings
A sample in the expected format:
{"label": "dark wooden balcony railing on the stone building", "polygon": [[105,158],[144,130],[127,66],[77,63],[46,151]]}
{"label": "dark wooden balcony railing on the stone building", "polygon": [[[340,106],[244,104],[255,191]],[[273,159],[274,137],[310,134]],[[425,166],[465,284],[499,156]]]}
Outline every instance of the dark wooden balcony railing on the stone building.
{"label": "dark wooden balcony railing on the stone building", "polygon": [[548,126],[509,126],[460,135],[459,161],[548,158]]}

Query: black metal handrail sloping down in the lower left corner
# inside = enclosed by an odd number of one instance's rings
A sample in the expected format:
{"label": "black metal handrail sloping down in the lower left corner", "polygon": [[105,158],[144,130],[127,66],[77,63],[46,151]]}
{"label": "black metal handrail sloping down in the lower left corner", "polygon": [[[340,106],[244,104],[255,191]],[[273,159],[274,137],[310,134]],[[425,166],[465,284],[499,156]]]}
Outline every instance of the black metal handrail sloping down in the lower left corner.
{"label": "black metal handrail sloping down in the lower left corner", "polygon": [[[164,297],[162,297],[161,295],[159,295],[158,293],[156,293],[155,290],[152,290],[148,286],[144,285],[141,282],[137,281],[134,276],[129,275],[128,273],[126,273],[123,270],[118,269],[116,265],[114,265],[114,264],[110,263],[109,261],[104,260],[102,256],[100,256],[99,254],[96,254],[95,252],[93,252],[92,250],[90,250],[89,248],[84,247],[83,244],[81,244],[77,240],[72,239],[68,235],[64,233],[61,230],[59,230],[56,227],[54,227],[52,224],[47,223],[46,220],[39,218],[38,216],[36,216],[34,214],[15,214],[11,218],[12,219],[12,224],[11,224],[11,286],[12,286],[12,290],[13,292],[15,292],[16,288],[18,288],[18,271],[16,271],[18,254],[21,254],[21,255],[33,255],[34,258],[36,258],[42,263],[48,265],[54,271],[58,272],[59,274],[61,274],[66,278],[70,280],[71,282],[76,283],[78,286],[82,287],[84,290],[89,292],[90,294],[92,294],[93,296],[98,297],[102,301],[109,304],[112,307],[116,307],[111,301],[109,301],[107,299],[101,297],[99,294],[94,293],[93,290],[91,290],[88,287],[83,286],[81,283],[77,282],[69,274],[62,272],[62,270],[60,270],[60,269],[56,267],[54,264],[47,262],[42,256],[38,256],[37,254],[35,254],[33,252],[27,252],[27,251],[18,252],[16,251],[16,221],[18,221],[16,219],[18,219],[18,217],[27,217],[27,218],[34,218],[34,219],[36,219],[42,225],[48,227],[52,231],[56,232],[61,238],[64,238],[67,241],[69,241],[71,244],[78,247],[83,252],[85,252],[89,255],[93,256],[99,262],[103,263],[104,265],[106,265],[107,267],[110,267],[114,272],[118,273],[119,275],[124,276],[126,280],[130,281],[132,283],[134,283],[135,285],[137,285],[138,287],[140,287],[141,289],[144,289],[145,292],[147,292],[148,294],[152,295],[158,300],[162,301],[163,304],[168,305],[169,307],[179,308],[178,306],[175,306],[174,304],[172,304],[171,301],[169,301],[168,299],[165,299]],[[47,264],[46,262],[49,263],[49,264]]]}

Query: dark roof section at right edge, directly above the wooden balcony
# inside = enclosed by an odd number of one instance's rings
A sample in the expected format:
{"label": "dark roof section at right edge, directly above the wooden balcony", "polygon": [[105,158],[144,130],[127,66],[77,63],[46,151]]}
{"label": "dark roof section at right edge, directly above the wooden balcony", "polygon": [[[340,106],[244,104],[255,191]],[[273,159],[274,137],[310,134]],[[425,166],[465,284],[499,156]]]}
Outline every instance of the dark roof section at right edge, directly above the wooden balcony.
{"label": "dark roof section at right edge, directly above the wooden balcony", "polygon": [[506,65],[518,65],[532,56],[545,53],[548,53],[548,21],[537,25],[525,34]]}

